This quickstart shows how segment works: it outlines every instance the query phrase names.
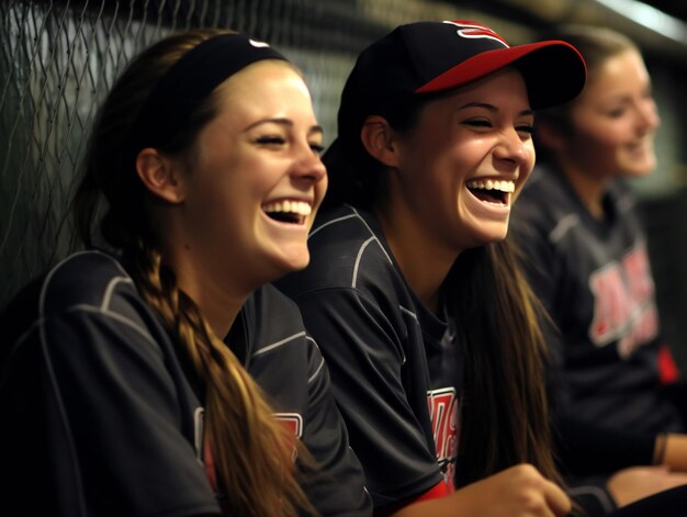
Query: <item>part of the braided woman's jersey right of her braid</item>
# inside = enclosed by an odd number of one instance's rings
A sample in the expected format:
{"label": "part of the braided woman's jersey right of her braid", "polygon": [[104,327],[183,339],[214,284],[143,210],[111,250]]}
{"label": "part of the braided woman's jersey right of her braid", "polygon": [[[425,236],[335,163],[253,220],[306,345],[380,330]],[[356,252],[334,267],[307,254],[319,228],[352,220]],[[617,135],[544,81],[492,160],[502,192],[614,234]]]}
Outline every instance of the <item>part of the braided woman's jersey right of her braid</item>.
{"label": "part of the braided woman's jersey right of her braid", "polygon": [[322,516],[365,516],[372,503],[360,462],[331,392],[329,371],[306,334],[299,307],[272,285],[241,307],[226,341],[243,349],[246,368],[268,394],[277,417],[290,426],[318,470],[303,480]]}

